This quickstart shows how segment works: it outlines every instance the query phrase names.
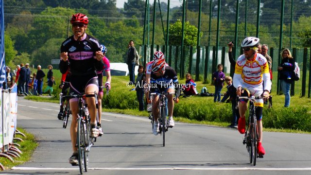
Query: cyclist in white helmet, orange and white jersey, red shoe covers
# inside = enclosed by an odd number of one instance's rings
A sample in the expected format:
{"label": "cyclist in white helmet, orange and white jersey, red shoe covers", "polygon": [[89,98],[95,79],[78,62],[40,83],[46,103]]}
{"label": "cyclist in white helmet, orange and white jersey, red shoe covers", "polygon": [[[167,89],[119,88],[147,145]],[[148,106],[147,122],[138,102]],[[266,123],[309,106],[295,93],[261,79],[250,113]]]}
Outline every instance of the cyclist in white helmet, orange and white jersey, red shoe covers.
{"label": "cyclist in white helmet, orange and white jersey, red shoe covers", "polygon": [[[241,47],[243,53],[236,62],[235,72],[233,76],[233,86],[237,88],[237,95],[244,93],[244,88],[252,93],[252,96],[264,96],[264,99],[257,100],[254,104],[256,109],[257,125],[258,125],[258,154],[263,156],[265,150],[261,145],[262,142],[262,108],[263,101],[269,98],[271,90],[270,73],[267,59],[257,53],[259,46],[259,38],[247,37],[242,41]],[[264,81],[264,86],[262,82]],[[246,90],[245,90],[246,92]],[[241,134],[245,133],[245,112],[247,109],[247,101],[241,100],[239,103],[240,119],[238,122],[238,130]]]}

